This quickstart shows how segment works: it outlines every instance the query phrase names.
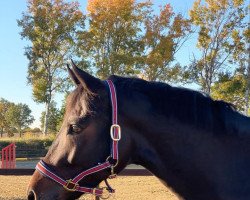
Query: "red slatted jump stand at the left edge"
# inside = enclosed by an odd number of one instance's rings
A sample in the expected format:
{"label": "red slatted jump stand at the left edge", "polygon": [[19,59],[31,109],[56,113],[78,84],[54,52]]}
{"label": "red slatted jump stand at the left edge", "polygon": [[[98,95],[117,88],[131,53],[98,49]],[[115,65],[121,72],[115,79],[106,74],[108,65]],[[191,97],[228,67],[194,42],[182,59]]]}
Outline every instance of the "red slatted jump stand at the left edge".
{"label": "red slatted jump stand at the left edge", "polygon": [[16,145],[11,143],[4,147],[1,151],[1,168],[14,169],[16,168]]}

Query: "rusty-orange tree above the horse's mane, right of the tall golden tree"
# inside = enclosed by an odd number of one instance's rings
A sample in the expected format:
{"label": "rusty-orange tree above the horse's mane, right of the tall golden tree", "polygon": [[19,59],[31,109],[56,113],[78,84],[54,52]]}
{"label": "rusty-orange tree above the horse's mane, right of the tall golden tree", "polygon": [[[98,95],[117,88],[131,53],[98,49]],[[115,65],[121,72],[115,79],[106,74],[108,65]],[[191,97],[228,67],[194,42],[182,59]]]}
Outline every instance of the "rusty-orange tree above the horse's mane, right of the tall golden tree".
{"label": "rusty-orange tree above the horse's mane, right of the tall golden tree", "polygon": [[182,76],[182,68],[176,63],[176,53],[192,33],[190,20],[175,14],[170,4],[160,14],[149,13],[145,19],[143,77],[155,81],[176,81]]}

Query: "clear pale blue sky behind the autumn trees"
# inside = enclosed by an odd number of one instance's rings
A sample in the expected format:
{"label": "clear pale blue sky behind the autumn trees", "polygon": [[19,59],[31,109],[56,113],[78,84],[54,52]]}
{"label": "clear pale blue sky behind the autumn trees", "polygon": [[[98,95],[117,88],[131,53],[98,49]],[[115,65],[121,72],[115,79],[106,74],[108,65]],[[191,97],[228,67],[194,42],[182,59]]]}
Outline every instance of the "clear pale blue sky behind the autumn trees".
{"label": "clear pale blue sky behind the autumn trees", "polygon": [[[86,13],[87,0],[79,0],[79,2],[82,11]],[[152,2],[155,5],[155,12],[159,10],[159,5],[170,3],[175,12],[188,17],[188,10],[194,0],[152,0]],[[24,47],[28,42],[21,39],[19,34],[21,29],[17,26],[17,19],[21,19],[26,6],[26,0],[0,1],[0,98],[27,104],[35,117],[31,125],[34,128],[40,127],[39,119],[45,105],[37,104],[33,100],[32,88],[27,84],[28,60],[24,55]],[[188,64],[190,56],[195,51],[195,45],[196,39],[193,37],[178,52],[177,61],[183,65]],[[55,96],[58,106],[61,105],[62,99],[62,94]]]}

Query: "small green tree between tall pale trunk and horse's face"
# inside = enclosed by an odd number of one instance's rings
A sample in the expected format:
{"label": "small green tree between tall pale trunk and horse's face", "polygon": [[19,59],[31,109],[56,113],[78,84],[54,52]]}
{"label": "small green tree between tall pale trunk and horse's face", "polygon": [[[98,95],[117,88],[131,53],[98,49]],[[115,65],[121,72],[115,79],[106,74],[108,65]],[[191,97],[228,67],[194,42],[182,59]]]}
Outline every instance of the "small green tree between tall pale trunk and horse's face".
{"label": "small green tree between tall pale trunk and horse's face", "polygon": [[[58,131],[58,124],[61,120],[61,113],[60,110],[56,108],[56,103],[54,101],[50,104],[50,110],[49,110],[49,118],[48,118],[48,131],[51,133],[56,133]],[[41,113],[41,127],[44,126],[44,118],[45,118],[45,112]]]}

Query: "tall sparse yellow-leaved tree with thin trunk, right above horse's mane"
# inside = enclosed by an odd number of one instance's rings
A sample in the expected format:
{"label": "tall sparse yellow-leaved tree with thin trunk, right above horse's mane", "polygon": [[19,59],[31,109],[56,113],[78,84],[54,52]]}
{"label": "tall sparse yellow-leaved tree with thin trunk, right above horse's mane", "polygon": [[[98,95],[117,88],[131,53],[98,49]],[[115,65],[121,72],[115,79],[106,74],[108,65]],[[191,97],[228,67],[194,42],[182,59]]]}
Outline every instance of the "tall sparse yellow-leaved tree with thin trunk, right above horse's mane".
{"label": "tall sparse yellow-leaved tree with thin trunk, right above horse's mane", "polygon": [[243,0],[196,0],[190,10],[191,20],[199,29],[197,47],[201,57],[194,57],[189,70],[204,92],[211,92],[212,83],[237,50],[233,35],[234,30],[246,26],[245,5]]}

